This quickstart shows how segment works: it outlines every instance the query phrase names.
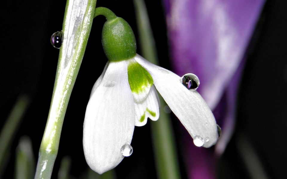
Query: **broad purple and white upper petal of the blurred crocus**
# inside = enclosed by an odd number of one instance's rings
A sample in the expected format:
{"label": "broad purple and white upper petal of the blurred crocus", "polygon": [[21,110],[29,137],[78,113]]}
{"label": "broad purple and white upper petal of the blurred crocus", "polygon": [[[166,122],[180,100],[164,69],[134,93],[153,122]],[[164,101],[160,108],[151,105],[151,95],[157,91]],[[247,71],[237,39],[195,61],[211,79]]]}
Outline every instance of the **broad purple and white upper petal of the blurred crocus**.
{"label": "broad purple and white upper petal of the blurred crocus", "polygon": [[172,63],[214,109],[242,60],[264,0],[165,0]]}

